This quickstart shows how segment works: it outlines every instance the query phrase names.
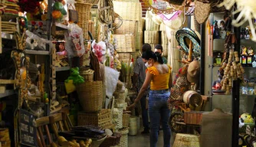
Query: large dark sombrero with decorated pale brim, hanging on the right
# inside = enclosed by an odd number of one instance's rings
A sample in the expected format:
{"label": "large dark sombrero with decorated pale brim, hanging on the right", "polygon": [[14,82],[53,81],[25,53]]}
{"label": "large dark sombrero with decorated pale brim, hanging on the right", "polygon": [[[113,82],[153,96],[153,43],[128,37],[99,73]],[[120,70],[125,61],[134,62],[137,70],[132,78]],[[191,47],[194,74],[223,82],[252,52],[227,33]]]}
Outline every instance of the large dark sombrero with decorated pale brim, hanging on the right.
{"label": "large dark sombrero with decorated pale brim, hanging on the right", "polygon": [[193,55],[199,57],[201,54],[200,39],[195,34],[195,31],[192,31],[190,28],[182,28],[176,32],[176,40],[179,42],[179,45],[186,53],[189,53],[189,42],[186,41],[186,38],[192,41]]}

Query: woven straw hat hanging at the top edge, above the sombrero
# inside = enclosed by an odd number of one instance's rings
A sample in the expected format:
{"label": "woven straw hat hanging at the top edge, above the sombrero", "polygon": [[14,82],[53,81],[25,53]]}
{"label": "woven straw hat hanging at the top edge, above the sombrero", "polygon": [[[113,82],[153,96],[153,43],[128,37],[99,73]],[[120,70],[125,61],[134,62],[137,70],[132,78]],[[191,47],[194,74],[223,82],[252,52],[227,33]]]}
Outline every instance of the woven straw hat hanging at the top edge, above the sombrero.
{"label": "woven straw hat hanging at the top edge, above the sombrero", "polygon": [[222,0],[196,0],[195,1],[195,19],[199,24],[204,23],[211,12],[225,11],[224,7],[218,8],[216,5]]}

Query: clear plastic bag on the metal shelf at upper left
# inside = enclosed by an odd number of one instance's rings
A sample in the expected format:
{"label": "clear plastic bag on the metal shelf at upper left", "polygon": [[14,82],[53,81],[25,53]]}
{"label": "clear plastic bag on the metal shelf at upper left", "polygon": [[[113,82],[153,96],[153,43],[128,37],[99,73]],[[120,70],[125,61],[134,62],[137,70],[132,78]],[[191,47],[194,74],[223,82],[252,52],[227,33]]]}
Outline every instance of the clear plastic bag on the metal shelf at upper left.
{"label": "clear plastic bag on the metal shelf at upper left", "polygon": [[31,50],[46,50],[46,44],[50,44],[51,41],[48,41],[44,38],[40,38],[38,35],[32,33],[31,31],[26,31],[28,38],[26,39],[26,48]]}

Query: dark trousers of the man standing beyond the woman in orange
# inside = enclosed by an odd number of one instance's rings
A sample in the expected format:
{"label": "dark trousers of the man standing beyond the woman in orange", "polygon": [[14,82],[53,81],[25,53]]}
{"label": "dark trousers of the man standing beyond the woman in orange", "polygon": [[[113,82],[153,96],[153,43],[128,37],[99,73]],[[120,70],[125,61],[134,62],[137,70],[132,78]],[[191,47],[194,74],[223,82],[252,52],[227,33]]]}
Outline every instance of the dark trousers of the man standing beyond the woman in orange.
{"label": "dark trousers of the man standing beyond the woman in orange", "polygon": [[143,117],[143,127],[144,131],[149,131],[149,116],[148,116],[148,109],[146,109],[146,96],[143,96],[140,99],[140,106],[142,111],[142,117]]}

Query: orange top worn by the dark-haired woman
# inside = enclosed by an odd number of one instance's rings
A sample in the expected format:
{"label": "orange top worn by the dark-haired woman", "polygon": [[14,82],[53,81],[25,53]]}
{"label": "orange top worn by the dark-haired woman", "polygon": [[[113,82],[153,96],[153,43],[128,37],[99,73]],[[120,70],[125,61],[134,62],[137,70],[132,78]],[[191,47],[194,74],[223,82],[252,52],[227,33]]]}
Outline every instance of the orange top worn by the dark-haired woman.
{"label": "orange top worn by the dark-haired woman", "polygon": [[149,67],[146,69],[146,72],[153,74],[153,80],[150,82],[150,90],[167,90],[169,89],[169,76],[172,70],[172,67],[169,67],[169,72],[165,74],[159,74],[159,71],[156,67]]}

